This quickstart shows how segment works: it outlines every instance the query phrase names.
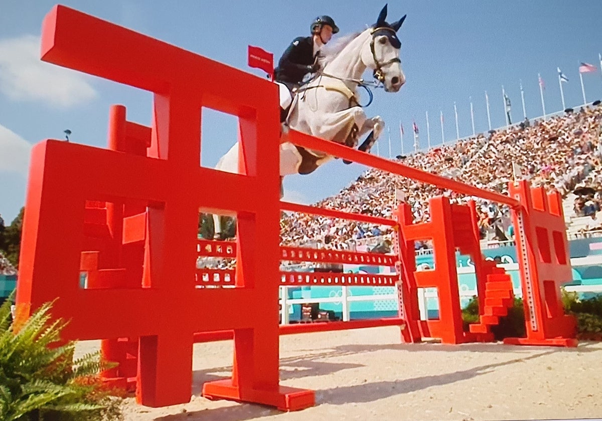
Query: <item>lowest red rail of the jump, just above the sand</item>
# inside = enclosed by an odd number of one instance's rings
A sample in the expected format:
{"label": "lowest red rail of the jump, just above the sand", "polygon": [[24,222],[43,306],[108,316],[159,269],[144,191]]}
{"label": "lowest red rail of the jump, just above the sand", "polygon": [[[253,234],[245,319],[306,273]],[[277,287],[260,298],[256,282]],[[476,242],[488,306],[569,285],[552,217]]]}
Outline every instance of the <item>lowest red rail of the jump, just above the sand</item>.
{"label": "lowest red rail of the jump, just above the sand", "polygon": [[[327,332],[334,330],[364,329],[383,326],[405,326],[406,322],[400,318],[380,318],[350,320],[349,322],[317,322],[317,323],[295,323],[280,325],[281,335],[296,333]],[[214,332],[198,332],[194,334],[194,343],[216,342],[218,340],[231,340],[234,338],[232,330],[218,330]]]}

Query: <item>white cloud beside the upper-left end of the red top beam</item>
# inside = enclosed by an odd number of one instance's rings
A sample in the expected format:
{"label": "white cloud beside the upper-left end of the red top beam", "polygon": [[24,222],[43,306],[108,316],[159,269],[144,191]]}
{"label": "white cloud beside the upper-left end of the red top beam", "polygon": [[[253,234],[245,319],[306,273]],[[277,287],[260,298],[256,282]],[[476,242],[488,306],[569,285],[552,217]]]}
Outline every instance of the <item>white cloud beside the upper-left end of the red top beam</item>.
{"label": "white cloud beside the upper-left end of the red top beam", "polygon": [[40,60],[40,38],[0,40],[0,92],[13,100],[67,108],[96,97],[85,76]]}

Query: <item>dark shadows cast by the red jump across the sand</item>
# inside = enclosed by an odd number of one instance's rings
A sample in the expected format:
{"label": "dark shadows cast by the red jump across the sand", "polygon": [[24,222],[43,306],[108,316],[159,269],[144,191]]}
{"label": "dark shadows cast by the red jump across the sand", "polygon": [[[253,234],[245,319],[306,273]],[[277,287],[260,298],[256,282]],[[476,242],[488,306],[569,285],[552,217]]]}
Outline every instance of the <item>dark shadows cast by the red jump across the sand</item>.
{"label": "dark shadows cast by the red jump across the sand", "polygon": [[[558,352],[574,354],[586,352],[600,352],[599,347],[592,347],[592,342],[582,342],[577,348],[533,348],[524,346],[512,346],[501,344],[482,344],[472,343],[465,345],[440,345],[436,343],[421,344],[388,344],[388,345],[341,345],[324,352],[315,352],[315,349],[308,349],[309,355],[281,358],[281,380],[301,378],[305,376],[328,375],[341,370],[363,367],[361,363],[334,363],[323,361],[325,358],[342,357],[345,355],[358,355],[365,352],[374,352],[382,350],[390,351],[421,351],[421,352],[512,352],[517,355],[508,361],[501,361],[495,364],[486,364],[473,367],[467,370],[458,370],[453,373],[443,373],[441,375],[421,376],[399,381],[378,381],[367,382],[355,386],[343,386],[335,389],[316,390],[316,405],[345,405],[352,402],[366,403],[373,402],[383,398],[389,398],[395,395],[416,392],[433,386],[443,386],[453,384],[458,381],[470,380],[477,376],[484,375],[494,371],[497,367],[507,366],[509,364],[521,363],[528,360],[534,360],[545,355],[556,354]],[[533,349],[539,349],[541,352],[533,355]],[[297,349],[296,351],[303,352]],[[525,355],[530,354],[530,355]],[[358,361],[361,358],[358,357]],[[222,376],[212,375],[215,372],[231,371],[232,367],[217,367],[213,369],[197,370],[193,377],[193,390],[196,392],[202,387],[205,381],[219,380]],[[244,421],[264,416],[273,416],[279,414],[278,410],[263,407],[256,404],[239,404],[229,407],[206,409],[203,411],[194,411],[189,413],[174,414],[159,417],[157,421],[183,421],[183,420],[220,420],[220,421]]]}

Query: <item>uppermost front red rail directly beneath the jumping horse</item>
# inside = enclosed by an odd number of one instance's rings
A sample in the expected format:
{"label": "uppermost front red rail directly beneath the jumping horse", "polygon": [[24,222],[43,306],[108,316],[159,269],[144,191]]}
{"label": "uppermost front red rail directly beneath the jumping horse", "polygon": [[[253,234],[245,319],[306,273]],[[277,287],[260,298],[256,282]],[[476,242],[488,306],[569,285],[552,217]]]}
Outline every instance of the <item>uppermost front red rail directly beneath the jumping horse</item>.
{"label": "uppermost front red rail directly beneath the jumping horse", "polygon": [[351,149],[350,147],[343,146],[332,141],[306,135],[295,130],[289,130],[288,133],[283,133],[282,138],[283,140],[285,139],[297,146],[320,150],[329,155],[348,159],[349,161],[357,162],[358,164],[364,164],[371,168],[378,168],[379,170],[387,171],[388,173],[408,177],[409,179],[418,180],[423,183],[429,183],[469,196],[482,197],[487,200],[507,204],[508,206],[520,207],[520,202],[518,200],[506,195],[490,190],[480,189],[459,181],[438,176],[436,174],[427,173],[426,171],[418,170],[418,168],[408,167],[407,165],[400,164],[399,162],[390,161],[389,159],[380,158],[380,156],[360,152],[359,150]]}

